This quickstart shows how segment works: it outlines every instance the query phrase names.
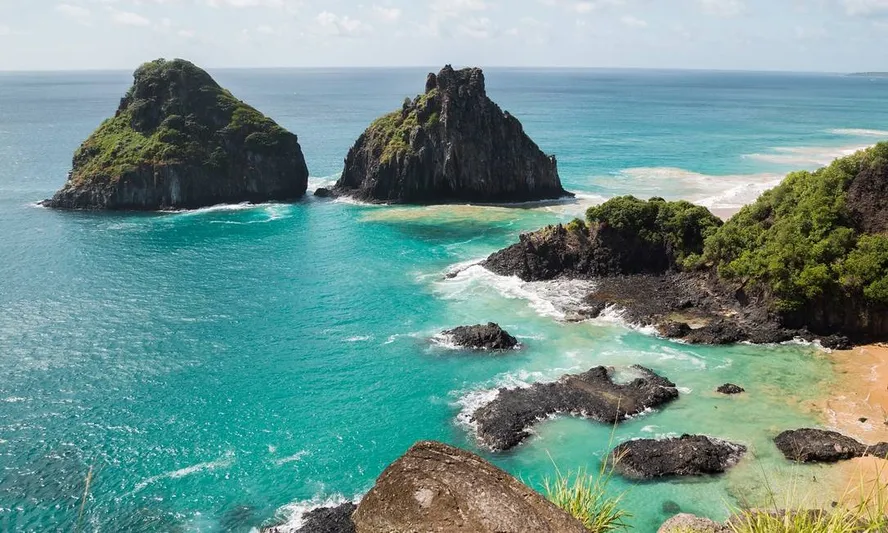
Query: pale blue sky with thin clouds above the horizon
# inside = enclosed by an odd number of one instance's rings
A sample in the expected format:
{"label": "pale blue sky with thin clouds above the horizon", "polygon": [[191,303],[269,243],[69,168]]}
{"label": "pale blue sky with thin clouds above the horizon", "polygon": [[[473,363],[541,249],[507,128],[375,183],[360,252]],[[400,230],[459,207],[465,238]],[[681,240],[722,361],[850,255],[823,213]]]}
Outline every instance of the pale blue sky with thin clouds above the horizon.
{"label": "pale blue sky with thin clouds above the horizon", "polygon": [[888,71],[888,0],[0,0],[0,70]]}

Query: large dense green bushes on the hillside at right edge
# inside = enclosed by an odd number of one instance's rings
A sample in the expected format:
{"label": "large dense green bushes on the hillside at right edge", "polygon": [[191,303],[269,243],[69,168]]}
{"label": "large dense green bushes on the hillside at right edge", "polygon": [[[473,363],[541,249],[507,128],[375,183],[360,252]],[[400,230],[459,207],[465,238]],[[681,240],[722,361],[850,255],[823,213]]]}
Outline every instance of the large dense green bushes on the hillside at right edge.
{"label": "large dense green bushes on the hillside at right edge", "polygon": [[842,289],[888,303],[886,237],[861,238],[846,206],[854,178],[885,160],[883,143],[790,174],[707,239],[704,260],[724,278],[762,287],[782,311]]}

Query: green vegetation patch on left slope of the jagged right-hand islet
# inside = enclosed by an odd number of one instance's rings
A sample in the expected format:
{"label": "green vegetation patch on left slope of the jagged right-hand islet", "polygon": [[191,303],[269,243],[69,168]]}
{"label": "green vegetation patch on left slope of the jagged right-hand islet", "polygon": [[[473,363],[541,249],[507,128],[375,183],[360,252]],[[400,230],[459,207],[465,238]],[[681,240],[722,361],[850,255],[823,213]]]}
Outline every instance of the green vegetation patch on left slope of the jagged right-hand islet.
{"label": "green vegetation patch on left slope of the jagged right-hand islet", "polygon": [[366,135],[370,142],[379,147],[382,163],[410,153],[410,136],[417,128],[433,129],[440,123],[438,113],[438,91],[433,89],[404,101],[400,111],[395,111],[376,119]]}

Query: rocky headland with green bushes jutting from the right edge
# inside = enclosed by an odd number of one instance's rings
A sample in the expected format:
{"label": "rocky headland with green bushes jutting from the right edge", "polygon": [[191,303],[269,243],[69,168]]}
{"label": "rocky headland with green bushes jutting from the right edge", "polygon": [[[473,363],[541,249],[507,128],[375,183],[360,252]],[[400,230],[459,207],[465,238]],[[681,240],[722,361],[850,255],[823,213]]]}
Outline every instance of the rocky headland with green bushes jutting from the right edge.
{"label": "rocky headland with green bushes jutting from the right edge", "polygon": [[691,343],[888,337],[888,143],[794,172],[722,224],[687,202],[631,196],[522,235],[483,265],[525,281],[594,278],[608,306]]}

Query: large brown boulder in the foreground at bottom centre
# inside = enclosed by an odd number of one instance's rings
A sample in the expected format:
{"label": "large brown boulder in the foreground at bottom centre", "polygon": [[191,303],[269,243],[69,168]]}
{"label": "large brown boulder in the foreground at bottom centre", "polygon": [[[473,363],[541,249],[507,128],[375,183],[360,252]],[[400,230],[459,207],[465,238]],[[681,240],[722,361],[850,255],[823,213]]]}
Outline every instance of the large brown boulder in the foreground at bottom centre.
{"label": "large brown boulder in the foreground at bottom centre", "polygon": [[477,455],[419,442],[389,465],[353,515],[360,533],[587,533]]}

